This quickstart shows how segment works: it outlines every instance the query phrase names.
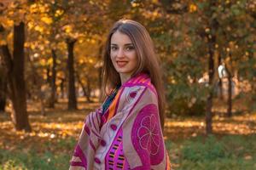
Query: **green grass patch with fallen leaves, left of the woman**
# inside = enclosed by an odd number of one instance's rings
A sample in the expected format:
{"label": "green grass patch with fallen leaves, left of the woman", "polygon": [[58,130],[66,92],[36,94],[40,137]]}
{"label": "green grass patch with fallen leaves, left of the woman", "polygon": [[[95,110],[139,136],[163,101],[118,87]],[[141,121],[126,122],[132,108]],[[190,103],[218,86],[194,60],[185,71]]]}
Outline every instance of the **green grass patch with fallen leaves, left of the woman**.
{"label": "green grass patch with fallen leaves, left of the woman", "polygon": [[[24,148],[20,145],[15,150],[0,150],[0,169],[68,169],[71,150],[75,144],[75,139],[61,139],[57,144],[41,144],[45,150],[38,152],[38,148],[32,145],[30,148]],[[49,147],[55,147],[55,150],[47,150]],[[64,150],[61,152],[61,150]],[[67,151],[70,150],[70,151]]]}

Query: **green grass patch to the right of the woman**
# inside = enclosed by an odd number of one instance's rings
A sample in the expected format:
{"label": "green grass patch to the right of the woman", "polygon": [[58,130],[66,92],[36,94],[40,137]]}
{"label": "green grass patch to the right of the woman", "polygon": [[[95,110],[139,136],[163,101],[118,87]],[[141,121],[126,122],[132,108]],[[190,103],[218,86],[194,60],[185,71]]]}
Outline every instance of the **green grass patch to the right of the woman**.
{"label": "green grass patch to the right of the woman", "polygon": [[256,169],[256,135],[202,136],[166,144],[172,167],[182,170]]}

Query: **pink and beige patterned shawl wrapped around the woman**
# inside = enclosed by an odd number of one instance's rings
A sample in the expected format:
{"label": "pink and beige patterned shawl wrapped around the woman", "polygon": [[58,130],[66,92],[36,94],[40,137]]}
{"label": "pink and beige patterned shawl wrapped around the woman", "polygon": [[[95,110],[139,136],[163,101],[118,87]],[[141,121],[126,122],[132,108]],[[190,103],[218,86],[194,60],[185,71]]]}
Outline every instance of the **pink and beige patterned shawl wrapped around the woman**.
{"label": "pink and beige patterned shawl wrapped around the woman", "polygon": [[86,117],[69,169],[170,169],[148,75],[125,82],[103,115],[100,108]]}

